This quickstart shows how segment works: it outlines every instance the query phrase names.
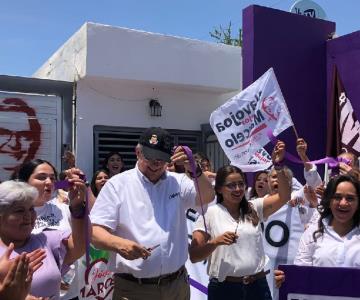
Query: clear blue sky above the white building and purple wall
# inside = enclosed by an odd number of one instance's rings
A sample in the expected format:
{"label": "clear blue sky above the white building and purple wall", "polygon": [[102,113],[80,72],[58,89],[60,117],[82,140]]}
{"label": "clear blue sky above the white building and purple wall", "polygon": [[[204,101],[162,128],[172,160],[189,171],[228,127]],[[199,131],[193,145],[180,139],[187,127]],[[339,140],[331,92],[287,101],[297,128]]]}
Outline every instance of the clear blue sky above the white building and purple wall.
{"label": "clear blue sky above the white building and purple wall", "polygon": [[[0,0],[0,74],[31,76],[85,22],[204,41],[209,32],[242,27],[257,4],[288,11],[295,0]],[[360,0],[315,0],[337,34],[360,30]]]}

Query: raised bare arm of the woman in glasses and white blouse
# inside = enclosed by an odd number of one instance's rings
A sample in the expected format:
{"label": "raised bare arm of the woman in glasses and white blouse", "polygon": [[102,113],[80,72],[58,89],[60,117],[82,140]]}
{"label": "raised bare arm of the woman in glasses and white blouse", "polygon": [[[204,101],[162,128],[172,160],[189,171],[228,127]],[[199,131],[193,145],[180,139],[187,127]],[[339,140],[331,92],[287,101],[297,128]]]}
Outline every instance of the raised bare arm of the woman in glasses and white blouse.
{"label": "raised bare arm of the woman in glasses and white blouse", "polygon": [[272,153],[272,161],[278,180],[278,192],[264,198],[263,215],[264,218],[269,217],[276,212],[291,198],[291,182],[286,176],[284,166],[282,164],[285,156],[285,143],[278,141]]}

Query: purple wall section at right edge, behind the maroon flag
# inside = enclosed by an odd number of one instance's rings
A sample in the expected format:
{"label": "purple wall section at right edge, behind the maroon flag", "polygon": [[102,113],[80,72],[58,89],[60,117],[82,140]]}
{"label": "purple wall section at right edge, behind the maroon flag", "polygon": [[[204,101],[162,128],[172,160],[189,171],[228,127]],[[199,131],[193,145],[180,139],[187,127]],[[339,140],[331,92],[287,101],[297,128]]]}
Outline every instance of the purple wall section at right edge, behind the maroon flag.
{"label": "purple wall section at right edge, behind the maroon flag", "polygon": [[331,94],[333,67],[336,64],[347,96],[360,120],[360,31],[327,42],[327,91]]}

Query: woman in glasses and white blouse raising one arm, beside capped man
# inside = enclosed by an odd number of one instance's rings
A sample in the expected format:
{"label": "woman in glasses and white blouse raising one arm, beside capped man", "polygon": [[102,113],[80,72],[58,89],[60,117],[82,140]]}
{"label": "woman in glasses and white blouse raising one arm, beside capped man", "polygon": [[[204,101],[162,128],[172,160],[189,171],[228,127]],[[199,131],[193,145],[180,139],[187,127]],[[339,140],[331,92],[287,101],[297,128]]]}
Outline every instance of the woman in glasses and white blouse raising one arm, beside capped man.
{"label": "woman in glasses and white blouse raising one arm, beside capped man", "polygon": [[260,222],[290,199],[290,183],[280,164],[284,153],[285,144],[278,142],[273,162],[279,192],[267,198],[248,202],[244,173],[235,166],[218,170],[215,179],[218,203],[208,208],[205,222],[201,217],[198,219],[189,248],[192,262],[210,256],[208,299],[271,299]]}

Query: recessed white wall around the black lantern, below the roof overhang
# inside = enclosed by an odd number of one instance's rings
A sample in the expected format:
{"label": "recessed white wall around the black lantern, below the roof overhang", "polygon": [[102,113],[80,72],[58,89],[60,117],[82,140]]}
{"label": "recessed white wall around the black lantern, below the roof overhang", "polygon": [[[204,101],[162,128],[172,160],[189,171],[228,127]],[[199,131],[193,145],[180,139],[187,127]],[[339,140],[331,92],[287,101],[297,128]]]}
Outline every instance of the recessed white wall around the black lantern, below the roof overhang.
{"label": "recessed white wall around the black lantern, below the roof overhang", "polygon": [[216,94],[166,86],[156,88],[155,96],[163,107],[162,116],[151,117],[149,100],[154,95],[151,86],[81,80],[77,98],[77,163],[91,178],[95,125],[200,130],[201,124],[209,122],[211,112],[235,93]]}

